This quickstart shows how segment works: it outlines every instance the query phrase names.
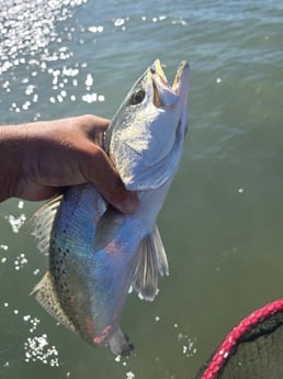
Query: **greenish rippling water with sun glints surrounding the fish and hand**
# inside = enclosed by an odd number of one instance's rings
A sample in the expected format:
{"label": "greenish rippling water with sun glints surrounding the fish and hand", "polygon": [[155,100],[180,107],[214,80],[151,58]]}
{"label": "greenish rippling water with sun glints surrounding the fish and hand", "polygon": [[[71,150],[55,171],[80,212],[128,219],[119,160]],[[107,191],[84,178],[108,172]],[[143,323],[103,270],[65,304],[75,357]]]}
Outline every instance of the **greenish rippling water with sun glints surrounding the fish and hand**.
{"label": "greenish rippling water with sun glints surrounding the fish and hand", "polygon": [[190,60],[191,91],[183,159],[158,222],[170,277],[154,303],[128,297],[133,357],[88,346],[29,296],[47,267],[24,227],[39,204],[9,200],[1,379],[193,378],[235,324],[282,297],[282,22],[279,0],[4,2],[0,124],[111,118],[156,57],[169,78]]}

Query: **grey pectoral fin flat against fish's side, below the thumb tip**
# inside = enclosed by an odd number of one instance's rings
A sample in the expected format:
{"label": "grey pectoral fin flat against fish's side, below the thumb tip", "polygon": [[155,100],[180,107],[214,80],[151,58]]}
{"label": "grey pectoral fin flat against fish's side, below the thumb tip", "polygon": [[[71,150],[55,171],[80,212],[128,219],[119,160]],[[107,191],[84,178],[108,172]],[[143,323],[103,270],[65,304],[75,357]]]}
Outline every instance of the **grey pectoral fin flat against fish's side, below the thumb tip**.
{"label": "grey pectoral fin flat against fish's side, below the thumb tip", "polygon": [[93,246],[94,252],[101,250],[115,238],[125,218],[125,214],[117,211],[114,207],[107,207],[97,225]]}

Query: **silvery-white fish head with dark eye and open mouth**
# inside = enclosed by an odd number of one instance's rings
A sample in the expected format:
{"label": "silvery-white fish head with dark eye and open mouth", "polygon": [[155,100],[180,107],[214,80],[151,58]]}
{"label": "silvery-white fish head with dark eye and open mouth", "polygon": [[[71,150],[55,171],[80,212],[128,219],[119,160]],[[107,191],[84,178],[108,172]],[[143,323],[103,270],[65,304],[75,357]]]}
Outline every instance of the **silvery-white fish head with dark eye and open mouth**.
{"label": "silvery-white fish head with dark eye and open mouth", "polygon": [[136,81],[105,133],[105,151],[128,190],[151,190],[170,180],[188,129],[189,64],[172,86],[157,59]]}

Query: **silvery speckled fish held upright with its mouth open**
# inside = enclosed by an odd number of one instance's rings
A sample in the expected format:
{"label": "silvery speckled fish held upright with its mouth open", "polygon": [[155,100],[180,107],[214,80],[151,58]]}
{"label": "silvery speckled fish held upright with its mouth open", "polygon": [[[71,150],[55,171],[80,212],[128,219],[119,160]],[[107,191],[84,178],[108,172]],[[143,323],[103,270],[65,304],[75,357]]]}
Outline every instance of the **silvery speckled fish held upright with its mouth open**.
{"label": "silvery speckled fish held upright with its mouth open", "polygon": [[188,130],[189,64],[172,86],[159,59],[135,82],[104,135],[122,181],[138,197],[133,214],[107,203],[91,183],[71,186],[33,216],[49,266],[32,293],[57,321],[94,346],[128,356],[120,326],[131,290],[152,301],[169,275],[156,220],[177,172]]}

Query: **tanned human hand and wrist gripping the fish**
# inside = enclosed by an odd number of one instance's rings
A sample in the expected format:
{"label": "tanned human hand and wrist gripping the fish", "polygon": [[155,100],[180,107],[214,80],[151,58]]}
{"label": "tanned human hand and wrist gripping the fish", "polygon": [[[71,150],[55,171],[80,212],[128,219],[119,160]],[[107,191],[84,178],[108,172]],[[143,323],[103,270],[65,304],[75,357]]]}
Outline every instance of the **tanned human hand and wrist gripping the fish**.
{"label": "tanned human hand and wrist gripping the fish", "polygon": [[137,207],[102,149],[106,119],[82,115],[0,126],[0,201],[46,200],[66,186],[93,183],[124,213]]}

